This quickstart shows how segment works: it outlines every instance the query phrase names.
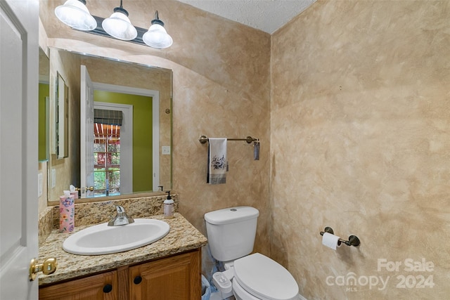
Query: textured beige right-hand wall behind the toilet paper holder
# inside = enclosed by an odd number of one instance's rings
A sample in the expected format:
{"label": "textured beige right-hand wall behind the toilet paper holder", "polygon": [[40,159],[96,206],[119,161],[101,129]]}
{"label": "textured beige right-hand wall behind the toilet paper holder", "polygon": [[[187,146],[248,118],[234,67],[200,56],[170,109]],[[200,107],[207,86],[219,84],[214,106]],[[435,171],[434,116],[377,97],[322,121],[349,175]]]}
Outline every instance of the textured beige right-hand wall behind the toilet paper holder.
{"label": "textured beige right-hand wall behind the toilet paper holder", "polygon": [[318,1],[271,43],[274,259],[308,299],[448,299],[450,2]]}

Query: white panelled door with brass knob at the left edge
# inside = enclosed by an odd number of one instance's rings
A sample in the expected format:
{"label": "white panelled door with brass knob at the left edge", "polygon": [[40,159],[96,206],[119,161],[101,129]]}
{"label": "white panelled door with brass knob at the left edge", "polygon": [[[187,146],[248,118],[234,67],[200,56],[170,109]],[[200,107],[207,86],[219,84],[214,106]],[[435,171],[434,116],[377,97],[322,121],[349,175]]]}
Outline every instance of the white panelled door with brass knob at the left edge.
{"label": "white panelled door with brass knob at the left edge", "polygon": [[37,299],[37,0],[0,0],[0,299]]}

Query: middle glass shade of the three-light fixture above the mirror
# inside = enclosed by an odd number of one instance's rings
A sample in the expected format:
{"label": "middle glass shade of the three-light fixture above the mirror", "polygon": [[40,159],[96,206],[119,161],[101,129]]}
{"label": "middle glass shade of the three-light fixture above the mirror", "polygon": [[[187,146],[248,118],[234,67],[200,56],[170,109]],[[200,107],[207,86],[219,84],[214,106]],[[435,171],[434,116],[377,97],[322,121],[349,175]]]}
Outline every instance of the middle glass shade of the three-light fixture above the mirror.
{"label": "middle glass shade of the three-light fixture above the mirror", "polygon": [[130,41],[131,39],[136,39],[138,36],[136,27],[131,25],[127,15],[120,11],[113,13],[110,18],[103,20],[101,25],[105,32],[108,32],[110,36],[116,39]]}

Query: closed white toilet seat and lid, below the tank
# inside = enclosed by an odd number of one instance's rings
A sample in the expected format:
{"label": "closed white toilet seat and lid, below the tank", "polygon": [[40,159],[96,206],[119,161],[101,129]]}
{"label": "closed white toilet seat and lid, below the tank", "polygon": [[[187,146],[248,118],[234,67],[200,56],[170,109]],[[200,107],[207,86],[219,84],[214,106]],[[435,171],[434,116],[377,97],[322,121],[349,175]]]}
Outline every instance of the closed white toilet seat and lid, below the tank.
{"label": "closed white toilet seat and lid, below the tank", "polygon": [[262,300],[296,300],[298,285],[281,264],[259,253],[234,261],[234,280]]}

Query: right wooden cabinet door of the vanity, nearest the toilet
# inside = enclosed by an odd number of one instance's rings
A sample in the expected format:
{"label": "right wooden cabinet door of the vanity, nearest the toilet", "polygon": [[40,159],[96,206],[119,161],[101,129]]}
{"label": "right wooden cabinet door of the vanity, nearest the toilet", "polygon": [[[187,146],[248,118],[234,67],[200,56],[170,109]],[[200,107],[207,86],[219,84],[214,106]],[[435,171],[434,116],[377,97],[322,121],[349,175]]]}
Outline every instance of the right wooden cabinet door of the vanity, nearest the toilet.
{"label": "right wooden cabinet door of the vanity, nearest the toilet", "polygon": [[132,300],[201,298],[200,250],[129,268]]}

